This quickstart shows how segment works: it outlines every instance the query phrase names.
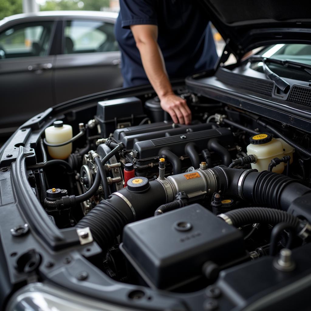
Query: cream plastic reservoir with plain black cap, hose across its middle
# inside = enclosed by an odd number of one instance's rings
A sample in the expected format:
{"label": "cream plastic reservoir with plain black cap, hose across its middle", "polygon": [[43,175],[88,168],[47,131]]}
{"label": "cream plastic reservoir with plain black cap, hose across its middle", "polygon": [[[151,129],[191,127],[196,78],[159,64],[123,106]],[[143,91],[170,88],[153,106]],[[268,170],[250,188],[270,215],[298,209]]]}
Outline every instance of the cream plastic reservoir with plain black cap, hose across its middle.
{"label": "cream plastic reservoir with plain black cap, hose across its middle", "polygon": [[[61,144],[72,138],[72,126],[63,121],[55,121],[53,126],[45,129],[45,140],[50,144]],[[49,155],[53,159],[67,159],[72,152],[72,143],[61,147],[48,146]]]}

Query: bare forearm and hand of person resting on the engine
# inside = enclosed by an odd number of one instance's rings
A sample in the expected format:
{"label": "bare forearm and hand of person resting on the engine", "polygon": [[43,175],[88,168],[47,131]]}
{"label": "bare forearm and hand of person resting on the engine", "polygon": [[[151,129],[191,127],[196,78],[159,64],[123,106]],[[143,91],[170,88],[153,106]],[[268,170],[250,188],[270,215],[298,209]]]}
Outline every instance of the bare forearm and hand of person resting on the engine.
{"label": "bare forearm and hand of person resting on the engine", "polygon": [[132,25],[131,30],[140,52],[146,75],[174,123],[190,124],[191,111],[187,102],[175,95],[167,77],[162,52],[157,43],[158,26]]}

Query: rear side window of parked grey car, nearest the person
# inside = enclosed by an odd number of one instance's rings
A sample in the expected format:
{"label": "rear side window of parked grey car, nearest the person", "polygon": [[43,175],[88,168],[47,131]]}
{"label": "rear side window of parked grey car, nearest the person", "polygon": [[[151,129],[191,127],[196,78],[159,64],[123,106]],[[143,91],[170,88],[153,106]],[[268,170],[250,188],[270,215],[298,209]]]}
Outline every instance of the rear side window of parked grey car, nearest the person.
{"label": "rear side window of parked grey car, nearest the person", "polygon": [[64,54],[118,51],[114,25],[103,21],[66,21]]}

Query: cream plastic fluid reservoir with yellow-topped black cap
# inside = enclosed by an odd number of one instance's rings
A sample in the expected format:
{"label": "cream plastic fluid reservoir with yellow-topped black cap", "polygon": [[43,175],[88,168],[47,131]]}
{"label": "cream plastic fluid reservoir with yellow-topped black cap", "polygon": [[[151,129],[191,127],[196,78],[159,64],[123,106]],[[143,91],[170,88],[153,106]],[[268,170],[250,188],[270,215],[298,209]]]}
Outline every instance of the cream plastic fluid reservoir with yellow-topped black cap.
{"label": "cream plastic fluid reservoir with yellow-topped black cap", "polygon": [[[262,172],[268,169],[273,158],[282,158],[284,156],[282,143],[272,138],[269,133],[261,133],[250,137],[250,144],[247,146],[247,154],[257,156],[257,162],[252,163],[252,169]],[[284,163],[276,165],[272,172],[281,174],[284,170]]]}

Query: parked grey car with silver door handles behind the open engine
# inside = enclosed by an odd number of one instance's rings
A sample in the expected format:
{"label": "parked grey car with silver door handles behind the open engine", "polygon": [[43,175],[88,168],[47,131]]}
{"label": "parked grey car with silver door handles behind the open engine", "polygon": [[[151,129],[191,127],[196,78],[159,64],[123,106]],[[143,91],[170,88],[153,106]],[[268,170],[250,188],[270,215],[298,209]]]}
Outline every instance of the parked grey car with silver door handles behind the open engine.
{"label": "parked grey car with silver door handles behind the open engine", "polygon": [[55,104],[122,86],[117,15],[54,11],[0,21],[0,135]]}

